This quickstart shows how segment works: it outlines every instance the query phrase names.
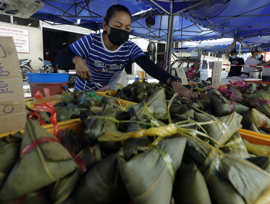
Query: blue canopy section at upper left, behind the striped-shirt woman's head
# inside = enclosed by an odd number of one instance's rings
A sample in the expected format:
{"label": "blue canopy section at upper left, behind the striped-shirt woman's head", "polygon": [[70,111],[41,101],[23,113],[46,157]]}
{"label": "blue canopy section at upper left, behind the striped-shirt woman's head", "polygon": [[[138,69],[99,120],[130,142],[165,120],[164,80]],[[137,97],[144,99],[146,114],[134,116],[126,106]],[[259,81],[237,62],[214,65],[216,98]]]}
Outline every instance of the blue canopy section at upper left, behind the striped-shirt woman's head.
{"label": "blue canopy section at upper left, behind the striped-shirt woman's head", "polygon": [[147,6],[133,0],[40,0],[44,7],[32,15],[33,18],[54,24],[79,25],[97,31],[102,28],[102,21],[107,9],[113,4],[122,4],[131,14],[147,10]]}

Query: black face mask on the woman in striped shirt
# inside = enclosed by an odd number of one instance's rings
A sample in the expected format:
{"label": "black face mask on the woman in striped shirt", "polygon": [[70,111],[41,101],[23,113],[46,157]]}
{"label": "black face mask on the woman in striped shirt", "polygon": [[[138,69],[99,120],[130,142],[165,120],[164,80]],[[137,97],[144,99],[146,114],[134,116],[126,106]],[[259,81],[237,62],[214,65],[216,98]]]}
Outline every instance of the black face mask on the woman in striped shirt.
{"label": "black face mask on the woman in striped shirt", "polygon": [[[109,26],[109,24],[107,24]],[[130,32],[123,30],[123,29],[118,29],[114,27],[110,27],[110,34],[107,33],[109,41],[116,46],[120,46],[124,44],[129,39],[129,34]]]}

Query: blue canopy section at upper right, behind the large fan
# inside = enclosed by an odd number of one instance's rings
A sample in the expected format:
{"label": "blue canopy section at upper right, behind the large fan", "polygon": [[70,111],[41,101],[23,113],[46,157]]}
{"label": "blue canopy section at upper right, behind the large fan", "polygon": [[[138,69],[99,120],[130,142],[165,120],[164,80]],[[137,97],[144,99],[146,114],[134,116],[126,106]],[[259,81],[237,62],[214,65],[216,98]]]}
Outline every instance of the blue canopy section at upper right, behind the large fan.
{"label": "blue canopy section at upper right, behind the large fan", "polygon": [[[152,9],[169,15],[168,31],[172,27],[174,15],[180,14],[195,24],[215,31],[219,38],[229,37],[241,40],[250,36],[270,35],[269,0],[231,0],[228,6],[218,16],[208,20],[198,20],[192,17],[185,8],[183,0],[135,0]],[[237,9],[236,9],[237,8]],[[200,7],[198,7],[200,9]],[[171,28],[172,30],[172,28]],[[169,32],[168,32],[169,34]],[[168,35],[167,50],[172,43]],[[167,52],[168,60],[171,54]]]}

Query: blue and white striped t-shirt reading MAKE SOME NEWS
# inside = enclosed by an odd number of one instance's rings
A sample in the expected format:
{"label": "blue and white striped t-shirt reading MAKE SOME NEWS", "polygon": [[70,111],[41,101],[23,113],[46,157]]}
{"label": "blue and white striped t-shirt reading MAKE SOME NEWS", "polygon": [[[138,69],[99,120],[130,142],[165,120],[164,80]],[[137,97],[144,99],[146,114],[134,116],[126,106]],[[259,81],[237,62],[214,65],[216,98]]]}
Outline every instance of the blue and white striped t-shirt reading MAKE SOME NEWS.
{"label": "blue and white striped t-shirt reading MAKE SOME NEWS", "polygon": [[[102,86],[108,85],[115,72],[123,70],[128,62],[134,62],[137,57],[143,56],[144,52],[139,46],[131,41],[126,41],[114,51],[108,50],[103,42],[102,33],[91,33],[80,38],[70,45],[72,51],[82,58],[90,69],[94,82]],[[90,82],[81,80],[79,77],[74,85],[74,90],[95,89]]]}

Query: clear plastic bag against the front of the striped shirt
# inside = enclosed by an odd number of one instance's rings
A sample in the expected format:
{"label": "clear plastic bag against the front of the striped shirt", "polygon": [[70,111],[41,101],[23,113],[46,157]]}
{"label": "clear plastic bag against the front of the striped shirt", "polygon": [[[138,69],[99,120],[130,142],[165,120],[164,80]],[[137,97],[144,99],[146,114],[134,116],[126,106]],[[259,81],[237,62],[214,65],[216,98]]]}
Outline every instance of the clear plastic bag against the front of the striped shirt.
{"label": "clear plastic bag against the front of the striped shirt", "polygon": [[119,84],[121,84],[122,87],[126,87],[129,84],[129,77],[123,70],[115,72],[113,77],[111,77],[111,80],[108,83],[109,90],[118,90],[121,88]]}

